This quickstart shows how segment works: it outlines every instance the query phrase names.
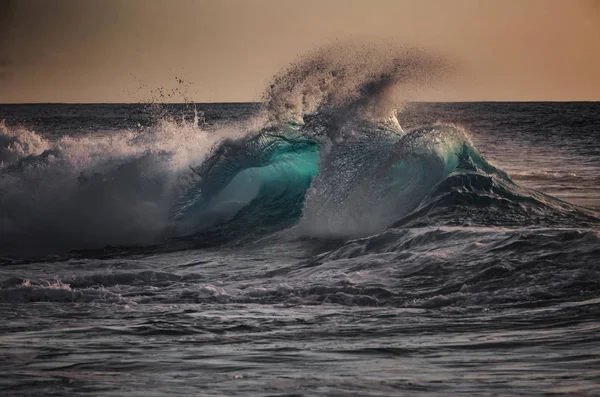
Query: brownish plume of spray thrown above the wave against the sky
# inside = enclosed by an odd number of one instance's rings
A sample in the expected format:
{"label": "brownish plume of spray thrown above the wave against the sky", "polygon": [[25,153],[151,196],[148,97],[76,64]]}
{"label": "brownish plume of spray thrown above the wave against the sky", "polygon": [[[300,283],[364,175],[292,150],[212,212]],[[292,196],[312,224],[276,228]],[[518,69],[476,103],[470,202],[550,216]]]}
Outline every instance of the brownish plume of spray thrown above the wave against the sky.
{"label": "brownish plume of spray thrown above the wave against the sky", "polygon": [[[338,43],[302,56],[277,74],[263,94],[268,118],[302,121],[319,112],[343,119],[395,118],[420,85],[449,73],[441,57],[418,48]],[[347,120],[346,120],[347,121]]]}

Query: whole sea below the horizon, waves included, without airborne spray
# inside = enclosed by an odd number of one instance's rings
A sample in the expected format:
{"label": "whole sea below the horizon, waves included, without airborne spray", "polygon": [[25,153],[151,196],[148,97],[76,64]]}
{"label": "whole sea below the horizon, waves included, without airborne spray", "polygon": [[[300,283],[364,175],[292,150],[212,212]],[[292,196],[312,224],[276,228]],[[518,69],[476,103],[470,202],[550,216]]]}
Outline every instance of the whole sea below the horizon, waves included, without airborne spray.
{"label": "whole sea below the horizon, waves included, without airborne spray", "polygon": [[0,395],[600,395],[600,103],[261,109],[0,105]]}

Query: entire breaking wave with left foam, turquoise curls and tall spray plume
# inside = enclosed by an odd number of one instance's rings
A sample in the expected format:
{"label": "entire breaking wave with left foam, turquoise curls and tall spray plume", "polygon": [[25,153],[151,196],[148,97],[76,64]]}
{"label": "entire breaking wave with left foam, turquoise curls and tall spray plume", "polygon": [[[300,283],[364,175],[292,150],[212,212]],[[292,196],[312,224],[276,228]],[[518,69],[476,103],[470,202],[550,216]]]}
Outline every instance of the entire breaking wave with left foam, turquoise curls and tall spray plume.
{"label": "entire breaking wave with left foam, turquoise curls and tall spray plume", "polygon": [[515,184],[460,127],[400,127],[411,90],[446,69],[417,50],[334,46],[276,76],[244,128],[204,131],[197,118],[166,118],[47,137],[1,124],[0,249],[27,256],[243,243],[281,230],[348,239],[390,226],[597,224]]}

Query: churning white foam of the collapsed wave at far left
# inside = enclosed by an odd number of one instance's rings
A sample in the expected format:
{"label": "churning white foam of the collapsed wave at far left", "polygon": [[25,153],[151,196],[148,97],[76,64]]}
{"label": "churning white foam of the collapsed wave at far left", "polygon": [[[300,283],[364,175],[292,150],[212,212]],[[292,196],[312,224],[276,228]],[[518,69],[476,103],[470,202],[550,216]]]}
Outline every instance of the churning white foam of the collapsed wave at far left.
{"label": "churning white foam of the collapsed wave at far left", "polygon": [[155,242],[190,167],[224,136],[170,119],[56,139],[0,124],[1,251]]}

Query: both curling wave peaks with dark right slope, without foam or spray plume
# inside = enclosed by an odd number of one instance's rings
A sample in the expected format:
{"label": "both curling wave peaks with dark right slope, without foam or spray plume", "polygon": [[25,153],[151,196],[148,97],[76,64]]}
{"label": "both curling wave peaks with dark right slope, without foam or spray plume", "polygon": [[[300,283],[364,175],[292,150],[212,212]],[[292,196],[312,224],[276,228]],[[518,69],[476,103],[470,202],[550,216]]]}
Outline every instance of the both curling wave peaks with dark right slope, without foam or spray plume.
{"label": "both curling wave peaks with dark right slope, without foam or spray plume", "polygon": [[178,236],[206,244],[292,225],[310,237],[347,238],[394,224],[543,223],[574,213],[517,186],[446,125],[406,134],[373,127],[334,142],[289,124],[221,143],[195,172],[171,222]]}

